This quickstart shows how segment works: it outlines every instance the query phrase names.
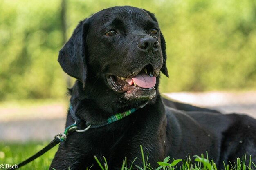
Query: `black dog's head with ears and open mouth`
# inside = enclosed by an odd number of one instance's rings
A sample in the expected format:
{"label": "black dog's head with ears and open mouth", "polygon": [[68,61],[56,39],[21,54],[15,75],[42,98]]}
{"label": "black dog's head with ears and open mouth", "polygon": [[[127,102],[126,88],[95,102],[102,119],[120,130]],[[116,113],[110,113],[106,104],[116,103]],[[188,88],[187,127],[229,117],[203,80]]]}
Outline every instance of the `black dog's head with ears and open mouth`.
{"label": "black dog's head with ears and open mouth", "polygon": [[81,21],[58,61],[85,90],[148,101],[156,95],[160,71],[168,77],[165,49],[152,13],[112,7]]}

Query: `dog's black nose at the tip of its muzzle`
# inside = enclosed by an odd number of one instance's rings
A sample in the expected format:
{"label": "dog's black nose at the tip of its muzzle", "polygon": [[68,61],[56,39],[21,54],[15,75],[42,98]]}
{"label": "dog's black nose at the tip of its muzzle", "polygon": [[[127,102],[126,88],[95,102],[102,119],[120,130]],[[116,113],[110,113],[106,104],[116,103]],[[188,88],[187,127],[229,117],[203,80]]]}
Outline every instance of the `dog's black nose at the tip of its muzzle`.
{"label": "dog's black nose at the tip of its muzzle", "polygon": [[137,42],[137,45],[140,49],[147,51],[147,52],[156,52],[159,50],[159,43],[158,41],[153,37],[143,37],[140,38]]}

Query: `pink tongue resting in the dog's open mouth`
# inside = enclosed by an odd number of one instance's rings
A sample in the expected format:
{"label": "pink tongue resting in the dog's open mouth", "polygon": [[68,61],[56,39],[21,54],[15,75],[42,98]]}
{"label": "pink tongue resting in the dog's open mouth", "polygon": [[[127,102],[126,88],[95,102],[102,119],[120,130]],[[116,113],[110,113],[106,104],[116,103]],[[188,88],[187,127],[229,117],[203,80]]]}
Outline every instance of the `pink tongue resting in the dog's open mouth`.
{"label": "pink tongue resting in the dog's open mouth", "polygon": [[155,86],[156,77],[150,77],[147,73],[142,72],[131,79],[126,80],[128,84],[132,85],[135,82],[142,88],[152,88]]}

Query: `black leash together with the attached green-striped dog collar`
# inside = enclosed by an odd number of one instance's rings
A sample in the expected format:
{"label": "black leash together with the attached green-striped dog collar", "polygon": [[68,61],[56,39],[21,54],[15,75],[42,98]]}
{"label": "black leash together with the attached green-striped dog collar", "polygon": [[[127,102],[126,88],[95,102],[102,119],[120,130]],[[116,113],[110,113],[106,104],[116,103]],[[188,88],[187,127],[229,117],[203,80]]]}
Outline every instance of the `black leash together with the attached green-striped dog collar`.
{"label": "black leash together with the attached green-striped dog collar", "polygon": [[[68,126],[64,133],[61,134],[57,134],[54,136],[54,139],[47,145],[45,146],[42,150],[40,150],[39,152],[37,152],[35,155],[32,155],[31,157],[29,157],[28,159],[26,159],[25,161],[22,161],[21,163],[19,163],[17,165],[18,168],[26,165],[27,163],[31,162],[31,161],[34,161],[36,158],[40,157],[41,155],[43,155],[45,152],[49,151],[50,149],[52,149],[54,146],[56,146],[57,144],[59,144],[60,142],[65,142],[67,140],[67,135],[69,132],[79,132],[79,133],[82,133],[82,132],[85,132],[87,131],[88,129],[90,128],[101,128],[103,126],[106,126],[108,124],[112,124],[114,123],[115,121],[118,121],[118,120],[121,120],[123,119],[124,117],[134,113],[136,110],[138,110],[139,108],[143,108],[144,106],[146,106],[146,104],[148,104],[148,102],[146,102],[145,104],[142,104],[140,106],[138,106],[137,108],[132,108],[130,110],[127,110],[127,111],[124,111],[122,113],[117,113],[115,115],[112,115],[110,117],[108,117],[108,119],[106,121],[103,121],[102,123],[99,123],[99,124],[91,124],[91,123],[86,123],[85,125],[87,126],[85,129],[83,130],[78,130],[77,129],[77,124],[79,124],[81,122],[81,120],[76,117],[75,115],[75,111],[72,107],[72,105],[70,104],[70,114],[72,116],[72,118],[74,119],[74,124]],[[12,168],[11,168],[12,169]],[[10,168],[6,169],[6,170],[11,170]],[[15,168],[16,169],[16,168]]]}

